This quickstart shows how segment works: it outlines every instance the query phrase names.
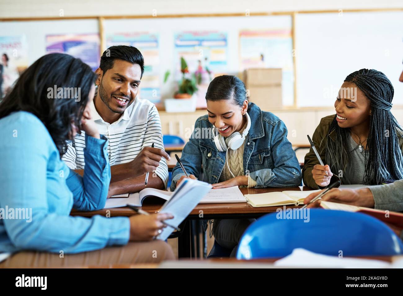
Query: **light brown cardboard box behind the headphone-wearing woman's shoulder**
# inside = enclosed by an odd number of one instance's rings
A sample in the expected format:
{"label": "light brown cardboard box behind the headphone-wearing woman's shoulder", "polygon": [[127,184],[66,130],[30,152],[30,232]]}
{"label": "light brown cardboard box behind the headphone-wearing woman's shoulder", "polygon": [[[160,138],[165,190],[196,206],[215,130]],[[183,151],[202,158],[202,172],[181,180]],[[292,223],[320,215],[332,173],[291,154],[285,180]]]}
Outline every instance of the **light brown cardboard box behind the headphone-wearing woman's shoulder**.
{"label": "light brown cardboard box behind the headphone-wearing woman's shoulder", "polygon": [[283,107],[282,69],[251,68],[244,71],[244,82],[249,91],[249,102],[263,111]]}

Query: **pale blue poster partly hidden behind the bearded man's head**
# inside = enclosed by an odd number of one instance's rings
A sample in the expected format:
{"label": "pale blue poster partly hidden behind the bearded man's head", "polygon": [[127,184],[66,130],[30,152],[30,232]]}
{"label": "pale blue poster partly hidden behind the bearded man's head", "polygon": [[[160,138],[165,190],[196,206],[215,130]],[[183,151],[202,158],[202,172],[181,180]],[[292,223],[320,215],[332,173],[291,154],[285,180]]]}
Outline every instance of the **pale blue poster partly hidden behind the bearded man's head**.
{"label": "pale blue poster partly hidden behind the bearded man's head", "polygon": [[144,57],[144,74],[141,78],[140,96],[152,103],[161,102],[159,36],[149,32],[116,33],[106,36],[106,47],[131,45]]}

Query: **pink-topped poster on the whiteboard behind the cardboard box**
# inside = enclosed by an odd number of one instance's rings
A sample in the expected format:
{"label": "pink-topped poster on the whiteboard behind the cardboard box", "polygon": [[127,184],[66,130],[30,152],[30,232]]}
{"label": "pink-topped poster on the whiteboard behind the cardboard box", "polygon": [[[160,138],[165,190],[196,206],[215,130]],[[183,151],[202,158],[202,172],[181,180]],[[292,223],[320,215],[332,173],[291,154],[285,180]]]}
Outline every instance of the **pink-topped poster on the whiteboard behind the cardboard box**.
{"label": "pink-topped poster on the whiteboard behind the cardboard box", "polygon": [[291,28],[239,32],[240,70],[283,69],[283,104],[294,102],[293,39]]}

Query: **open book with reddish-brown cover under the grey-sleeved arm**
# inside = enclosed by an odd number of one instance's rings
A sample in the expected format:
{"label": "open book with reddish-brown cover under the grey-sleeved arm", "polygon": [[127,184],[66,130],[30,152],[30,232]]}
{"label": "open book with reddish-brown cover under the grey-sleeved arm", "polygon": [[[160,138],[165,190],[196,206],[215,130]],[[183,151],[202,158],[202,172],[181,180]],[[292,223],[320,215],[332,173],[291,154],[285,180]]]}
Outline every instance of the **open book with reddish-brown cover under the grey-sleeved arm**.
{"label": "open book with reddish-brown cover under the grey-sleeved arm", "polygon": [[390,212],[386,210],[375,210],[371,208],[364,208],[358,206],[346,205],[344,203],[336,203],[332,201],[320,201],[320,206],[328,210],[340,210],[346,212],[359,212],[370,215],[374,218],[393,224],[395,226],[403,228],[403,214],[397,212]]}

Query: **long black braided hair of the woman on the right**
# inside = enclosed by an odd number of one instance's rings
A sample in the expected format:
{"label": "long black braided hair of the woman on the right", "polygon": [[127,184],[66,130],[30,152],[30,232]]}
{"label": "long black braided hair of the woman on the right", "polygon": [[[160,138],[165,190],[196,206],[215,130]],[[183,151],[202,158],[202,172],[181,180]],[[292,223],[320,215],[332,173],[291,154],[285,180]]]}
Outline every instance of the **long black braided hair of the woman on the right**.
{"label": "long black braided hair of the woman on the right", "polygon": [[[394,94],[391,81],[385,74],[373,69],[355,71],[344,81],[355,84],[371,104],[363,184],[375,185],[386,180],[403,179],[403,157],[399,147],[402,130],[391,113]],[[332,131],[336,132],[335,141],[329,137]],[[326,139],[326,162],[335,171],[346,170],[350,162],[347,149],[349,135],[350,129],[339,127],[334,115]]]}

